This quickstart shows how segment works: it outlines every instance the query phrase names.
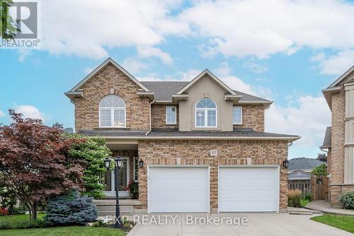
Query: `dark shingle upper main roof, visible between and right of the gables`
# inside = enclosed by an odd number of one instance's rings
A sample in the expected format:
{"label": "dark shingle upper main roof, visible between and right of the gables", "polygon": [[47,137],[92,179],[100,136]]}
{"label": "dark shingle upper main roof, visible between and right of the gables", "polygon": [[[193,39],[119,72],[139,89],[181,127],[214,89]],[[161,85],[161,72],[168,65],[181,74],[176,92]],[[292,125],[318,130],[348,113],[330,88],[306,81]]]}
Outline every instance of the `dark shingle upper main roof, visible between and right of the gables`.
{"label": "dark shingle upper main roof, visible between and right of the gables", "polygon": [[[141,82],[147,89],[155,93],[156,101],[172,101],[172,95],[177,94],[189,82]],[[268,101],[250,94],[234,90],[236,94],[242,95],[240,101]]]}

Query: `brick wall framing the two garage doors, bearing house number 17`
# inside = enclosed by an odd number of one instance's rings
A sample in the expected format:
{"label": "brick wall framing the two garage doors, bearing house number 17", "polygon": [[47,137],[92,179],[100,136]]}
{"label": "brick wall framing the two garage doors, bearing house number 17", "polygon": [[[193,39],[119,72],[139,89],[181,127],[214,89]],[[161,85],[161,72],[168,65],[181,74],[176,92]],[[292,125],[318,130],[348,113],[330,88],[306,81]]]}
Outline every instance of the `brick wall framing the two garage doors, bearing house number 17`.
{"label": "brick wall framing the two garage doors, bearing house number 17", "polygon": [[[218,150],[211,157],[209,150]],[[280,165],[280,209],[287,208],[287,141],[232,141],[232,140],[143,140],[138,144],[139,158],[144,168],[139,169],[139,200],[147,209],[147,165],[149,164],[203,164],[210,166],[210,207],[217,208],[217,167],[220,164]]]}

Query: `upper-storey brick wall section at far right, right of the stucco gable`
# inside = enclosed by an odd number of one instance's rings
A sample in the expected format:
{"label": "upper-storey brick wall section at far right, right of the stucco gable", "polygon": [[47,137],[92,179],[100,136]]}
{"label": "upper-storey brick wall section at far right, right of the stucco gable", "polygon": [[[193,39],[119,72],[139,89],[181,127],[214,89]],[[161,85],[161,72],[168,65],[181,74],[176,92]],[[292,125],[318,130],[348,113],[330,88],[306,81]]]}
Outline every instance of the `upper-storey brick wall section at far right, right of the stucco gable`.
{"label": "upper-storey brick wall section at far right, right of the stucco gable", "polygon": [[264,109],[263,105],[242,106],[242,125],[234,125],[234,128],[253,128],[255,131],[264,132]]}

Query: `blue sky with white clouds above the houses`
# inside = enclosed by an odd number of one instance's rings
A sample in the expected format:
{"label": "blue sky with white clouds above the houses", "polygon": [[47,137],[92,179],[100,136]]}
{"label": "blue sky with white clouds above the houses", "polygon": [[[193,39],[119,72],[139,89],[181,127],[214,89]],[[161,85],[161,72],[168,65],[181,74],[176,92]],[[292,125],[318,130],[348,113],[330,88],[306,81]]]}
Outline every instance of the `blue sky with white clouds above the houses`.
{"label": "blue sky with white clouds above the houses", "polygon": [[[40,0],[39,0],[40,1]],[[40,49],[0,49],[8,108],[74,127],[64,96],[107,57],[141,81],[203,69],[270,99],[265,131],[300,135],[289,158],[316,158],[331,112],[321,90],[354,65],[353,1],[40,1]]]}

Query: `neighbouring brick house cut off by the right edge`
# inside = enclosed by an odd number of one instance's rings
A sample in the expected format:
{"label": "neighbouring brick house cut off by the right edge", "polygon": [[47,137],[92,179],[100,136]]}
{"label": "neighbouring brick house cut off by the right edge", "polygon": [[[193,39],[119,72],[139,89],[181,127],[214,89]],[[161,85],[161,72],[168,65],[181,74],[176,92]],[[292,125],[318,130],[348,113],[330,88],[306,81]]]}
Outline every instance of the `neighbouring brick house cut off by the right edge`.
{"label": "neighbouring brick house cut off by the right edge", "polygon": [[338,196],[354,191],[354,66],[323,94],[331,109],[331,127],[320,148],[328,152],[329,198],[338,205]]}

